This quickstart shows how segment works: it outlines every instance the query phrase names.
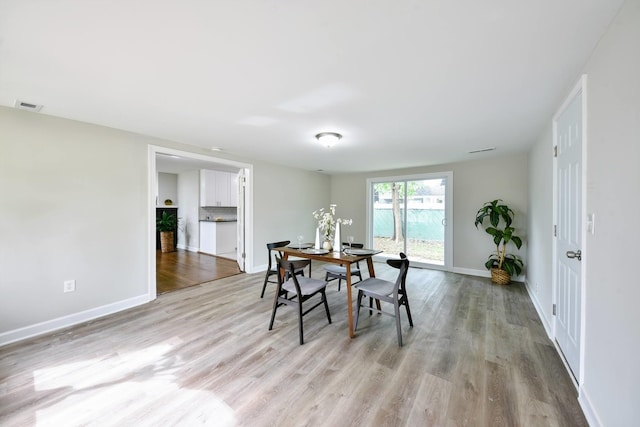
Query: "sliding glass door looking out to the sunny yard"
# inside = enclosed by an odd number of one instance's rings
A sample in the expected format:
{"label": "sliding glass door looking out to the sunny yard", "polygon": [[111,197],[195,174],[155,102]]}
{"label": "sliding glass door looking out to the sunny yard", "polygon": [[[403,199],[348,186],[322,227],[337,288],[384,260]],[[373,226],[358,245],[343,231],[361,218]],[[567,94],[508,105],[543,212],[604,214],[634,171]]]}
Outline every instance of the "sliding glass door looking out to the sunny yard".
{"label": "sliding glass door looking out to the sunny yard", "polygon": [[383,257],[450,270],[451,172],[368,180],[368,245]]}

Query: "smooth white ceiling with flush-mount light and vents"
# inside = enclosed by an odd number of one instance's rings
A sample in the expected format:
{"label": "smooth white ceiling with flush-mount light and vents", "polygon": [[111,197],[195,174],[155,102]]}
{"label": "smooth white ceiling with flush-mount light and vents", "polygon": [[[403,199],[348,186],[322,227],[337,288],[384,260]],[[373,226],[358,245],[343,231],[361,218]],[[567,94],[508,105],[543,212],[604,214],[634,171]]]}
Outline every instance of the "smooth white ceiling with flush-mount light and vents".
{"label": "smooth white ceiling with flush-mount light and vents", "polygon": [[327,173],[470,160],[529,148],[621,3],[0,0],[0,105]]}

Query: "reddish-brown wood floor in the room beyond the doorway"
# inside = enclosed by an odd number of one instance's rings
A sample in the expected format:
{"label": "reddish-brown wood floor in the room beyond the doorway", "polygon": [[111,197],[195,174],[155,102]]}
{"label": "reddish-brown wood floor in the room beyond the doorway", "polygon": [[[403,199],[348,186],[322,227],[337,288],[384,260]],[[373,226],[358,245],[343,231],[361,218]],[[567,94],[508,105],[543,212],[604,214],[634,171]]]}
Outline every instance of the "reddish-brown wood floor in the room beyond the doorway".
{"label": "reddish-brown wood floor in the room beyond the doorway", "polygon": [[241,273],[227,258],[178,249],[156,251],[156,292],[163,294]]}

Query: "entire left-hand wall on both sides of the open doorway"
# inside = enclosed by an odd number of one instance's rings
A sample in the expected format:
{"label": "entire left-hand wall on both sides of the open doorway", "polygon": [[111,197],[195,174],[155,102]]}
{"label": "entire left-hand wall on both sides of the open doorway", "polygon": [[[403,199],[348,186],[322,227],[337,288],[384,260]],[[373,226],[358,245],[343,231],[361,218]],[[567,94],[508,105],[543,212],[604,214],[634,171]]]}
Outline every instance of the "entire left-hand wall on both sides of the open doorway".
{"label": "entire left-hand wall on both sides of the open doorway", "polygon": [[[0,107],[0,345],[149,300],[148,280],[155,278],[147,271],[155,250],[147,235],[155,205],[149,145],[210,155]],[[311,212],[328,201],[330,191],[325,175],[254,166],[251,271],[261,267],[256,260],[266,264],[268,241],[293,240],[300,225],[311,228]],[[77,280],[77,291],[63,293],[69,279]]]}

